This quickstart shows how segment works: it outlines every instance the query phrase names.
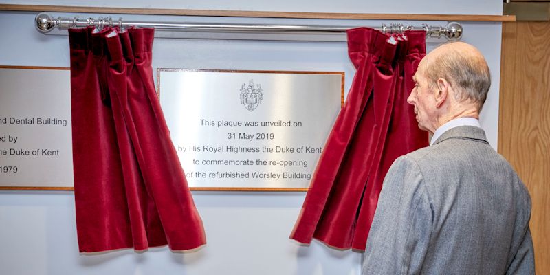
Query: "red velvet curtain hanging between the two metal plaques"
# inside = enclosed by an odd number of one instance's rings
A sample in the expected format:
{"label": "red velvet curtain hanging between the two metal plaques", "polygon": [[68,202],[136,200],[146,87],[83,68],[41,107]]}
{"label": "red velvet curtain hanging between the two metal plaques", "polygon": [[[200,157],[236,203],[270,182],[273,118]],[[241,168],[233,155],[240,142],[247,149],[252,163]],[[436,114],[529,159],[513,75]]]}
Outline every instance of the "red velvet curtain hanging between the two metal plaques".
{"label": "red velvet curtain hanging between the two metal plaques", "polygon": [[80,252],[206,243],[155,94],[153,33],[69,30]]}

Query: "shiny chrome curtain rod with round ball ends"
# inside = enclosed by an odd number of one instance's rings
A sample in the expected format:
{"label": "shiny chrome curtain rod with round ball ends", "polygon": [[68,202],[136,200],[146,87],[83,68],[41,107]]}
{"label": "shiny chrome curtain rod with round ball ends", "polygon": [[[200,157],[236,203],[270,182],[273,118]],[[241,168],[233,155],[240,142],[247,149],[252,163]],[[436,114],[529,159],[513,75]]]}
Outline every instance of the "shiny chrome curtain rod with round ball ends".
{"label": "shiny chrome curtain rod with round ball ends", "polygon": [[[68,28],[82,28],[95,26],[97,28],[119,27],[129,28],[131,26],[142,28],[155,28],[159,30],[181,30],[190,32],[314,32],[314,33],[338,33],[345,32],[348,29],[356,28],[353,26],[314,26],[314,25],[259,25],[259,24],[226,24],[226,23],[178,23],[178,22],[147,22],[147,21],[122,21],[122,17],[113,21],[111,17],[99,17],[98,19],[88,18],[79,19],[74,17],[54,18],[46,13],[39,13],[35,18],[36,29],[39,32],[47,33],[58,28],[59,30]],[[462,36],[462,25],[456,22],[450,22],[445,27],[430,26],[422,24],[420,27],[403,25],[400,23],[391,23],[387,26],[375,28],[382,32],[402,33],[406,30],[426,31],[426,37],[440,38],[444,36],[449,40],[458,40]]]}

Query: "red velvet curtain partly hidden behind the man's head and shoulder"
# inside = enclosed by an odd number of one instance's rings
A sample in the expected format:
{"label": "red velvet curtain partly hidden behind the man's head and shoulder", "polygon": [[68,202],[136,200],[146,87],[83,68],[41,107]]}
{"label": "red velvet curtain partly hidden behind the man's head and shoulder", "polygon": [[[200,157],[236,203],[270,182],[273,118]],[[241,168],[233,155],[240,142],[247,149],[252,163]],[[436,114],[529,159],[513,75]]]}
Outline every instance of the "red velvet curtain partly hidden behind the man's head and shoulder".
{"label": "red velvet curtain partly hidden behind the man's head and shoulder", "polygon": [[364,250],[386,172],[400,155],[428,145],[406,102],[426,55],[426,33],[356,28],[347,34],[357,72],[290,238]]}

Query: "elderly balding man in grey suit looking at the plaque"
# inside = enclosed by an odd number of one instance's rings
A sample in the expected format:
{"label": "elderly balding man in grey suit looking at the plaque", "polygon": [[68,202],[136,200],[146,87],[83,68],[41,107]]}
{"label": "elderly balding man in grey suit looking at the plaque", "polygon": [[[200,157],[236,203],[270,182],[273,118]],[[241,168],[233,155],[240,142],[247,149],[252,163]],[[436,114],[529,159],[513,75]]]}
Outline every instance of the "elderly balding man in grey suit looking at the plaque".
{"label": "elderly balding man in grey suit looking at the plaque", "polygon": [[491,85],[485,58],[446,43],[414,80],[407,101],[432,141],[388,171],[363,274],[534,274],[531,198],[478,122]]}

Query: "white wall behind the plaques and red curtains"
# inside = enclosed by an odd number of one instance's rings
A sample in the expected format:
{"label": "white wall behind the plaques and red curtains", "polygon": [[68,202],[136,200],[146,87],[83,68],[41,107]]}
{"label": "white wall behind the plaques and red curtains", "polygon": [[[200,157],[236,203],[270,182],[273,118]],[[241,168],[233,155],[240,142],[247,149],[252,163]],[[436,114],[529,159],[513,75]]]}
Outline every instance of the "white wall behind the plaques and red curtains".
{"label": "white wall behind the plaques and red curtains", "polygon": [[[0,1],[2,2],[2,1]],[[4,3],[13,3],[6,2]],[[203,1],[204,2],[204,1]],[[248,3],[250,2],[250,3]],[[299,2],[299,3],[298,3]],[[309,3],[305,3],[309,2]],[[150,7],[151,1],[17,1],[42,5]],[[451,8],[452,7],[452,8]],[[158,1],[154,8],[500,14],[501,1]],[[53,14],[53,13],[52,13]],[[69,66],[67,36],[39,34],[34,13],[0,12],[0,65]],[[57,15],[57,14],[54,14]],[[60,14],[63,15],[63,14]],[[74,14],[67,14],[73,16]],[[83,17],[83,16],[81,16]],[[129,18],[129,16],[125,16]],[[115,17],[118,18],[118,17]],[[177,17],[134,18],[173,21]],[[188,19],[188,18],[185,18]],[[192,18],[193,21],[210,19]],[[223,19],[211,21],[379,25],[380,21]],[[419,25],[424,22],[417,22]],[[439,23],[439,22],[436,22]],[[17,27],[14,27],[17,26]],[[463,22],[463,41],[485,54],[493,87],[481,122],[496,148],[500,23]],[[428,49],[434,44],[428,45]],[[353,66],[342,42],[227,41],[155,39],[153,67],[344,71],[346,91]],[[1,83],[0,83],[1,85]],[[1,86],[0,86],[1,87]],[[54,91],[52,91],[54,92]],[[67,104],[67,102],[60,102]],[[193,192],[208,245],[173,254],[167,248],[144,254],[123,250],[94,256],[78,254],[72,192],[0,192],[0,274],[359,274],[356,252],[336,251],[318,242],[309,247],[288,239],[303,192]]]}

